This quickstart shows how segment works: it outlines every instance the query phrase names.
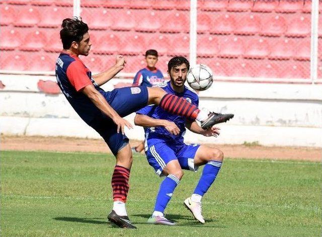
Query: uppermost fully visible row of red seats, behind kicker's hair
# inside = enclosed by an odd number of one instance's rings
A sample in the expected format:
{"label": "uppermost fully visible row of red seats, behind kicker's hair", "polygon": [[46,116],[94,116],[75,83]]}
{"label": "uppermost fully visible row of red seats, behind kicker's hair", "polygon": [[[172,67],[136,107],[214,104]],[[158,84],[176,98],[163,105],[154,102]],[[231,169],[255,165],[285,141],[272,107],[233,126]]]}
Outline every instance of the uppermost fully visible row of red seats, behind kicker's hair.
{"label": "uppermost fully visible row of red seats, behind kicker's hair", "polygon": [[[15,10],[7,5],[1,8],[0,24],[2,26],[13,24],[16,27],[56,28],[61,19],[71,15],[71,9],[66,11],[63,7],[20,7]],[[94,30],[115,30],[138,32],[165,32],[180,33],[189,31],[189,16],[176,11],[163,14],[148,10],[133,13],[128,10],[106,10],[102,8],[85,8],[81,16]],[[142,17],[143,16],[143,17]],[[237,16],[230,13],[214,14],[201,12],[198,15],[198,33],[211,34],[239,34],[264,35],[288,37],[305,37],[310,33],[310,16],[294,15],[283,17],[280,15],[254,15]],[[150,21],[153,19],[153,21]],[[322,19],[322,18],[321,18]],[[322,20],[320,20],[321,22]],[[320,24],[322,36],[322,22]]]}

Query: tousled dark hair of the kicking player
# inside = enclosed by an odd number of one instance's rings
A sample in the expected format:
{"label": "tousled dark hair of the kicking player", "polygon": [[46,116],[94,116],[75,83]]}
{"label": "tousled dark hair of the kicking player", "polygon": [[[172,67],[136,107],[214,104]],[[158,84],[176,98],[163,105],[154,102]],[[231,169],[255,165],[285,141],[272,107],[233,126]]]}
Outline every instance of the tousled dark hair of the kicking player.
{"label": "tousled dark hair of the kicking player", "polygon": [[69,49],[71,43],[81,42],[84,34],[89,31],[89,27],[82,21],[82,18],[66,18],[62,21],[60,30],[60,39],[63,49]]}

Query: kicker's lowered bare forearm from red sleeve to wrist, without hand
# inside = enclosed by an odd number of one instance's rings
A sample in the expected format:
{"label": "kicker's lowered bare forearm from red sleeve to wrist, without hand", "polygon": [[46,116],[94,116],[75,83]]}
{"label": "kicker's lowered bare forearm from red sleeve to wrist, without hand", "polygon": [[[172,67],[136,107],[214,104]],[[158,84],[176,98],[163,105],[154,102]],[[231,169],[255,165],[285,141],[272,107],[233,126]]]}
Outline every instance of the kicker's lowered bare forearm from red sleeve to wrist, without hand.
{"label": "kicker's lowered bare forearm from red sleeve to wrist, without hand", "polygon": [[93,85],[86,86],[82,91],[93,104],[111,119],[119,117],[118,113],[107,103],[102,94]]}

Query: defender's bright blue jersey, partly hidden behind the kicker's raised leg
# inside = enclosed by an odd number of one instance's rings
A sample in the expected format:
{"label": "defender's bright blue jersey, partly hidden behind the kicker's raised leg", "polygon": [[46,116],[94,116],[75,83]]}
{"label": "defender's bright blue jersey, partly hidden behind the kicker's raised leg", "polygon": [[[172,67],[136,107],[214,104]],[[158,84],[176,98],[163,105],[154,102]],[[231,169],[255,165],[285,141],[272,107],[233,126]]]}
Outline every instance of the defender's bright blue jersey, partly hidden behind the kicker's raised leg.
{"label": "defender's bright blue jersey, partly hidden behind the kicker's raised leg", "polygon": [[[169,94],[174,94],[178,97],[183,97],[187,101],[191,102],[192,104],[194,104],[196,106],[199,105],[198,95],[195,92],[188,89],[187,87],[185,87],[183,93],[175,92],[172,89],[170,82],[160,84],[160,85],[158,85],[158,87],[161,87]],[[137,114],[144,114],[144,115],[147,115],[147,116],[149,116],[151,118],[155,118],[155,119],[165,119],[165,120],[172,121],[180,129],[179,135],[176,136],[176,135],[173,135],[170,132],[168,132],[167,129],[165,129],[164,127],[146,127],[146,128],[144,128],[145,139],[146,139],[148,147],[150,147],[151,145],[154,145],[156,143],[164,142],[164,141],[171,142],[172,144],[183,143],[183,140],[184,140],[183,135],[186,132],[186,126],[185,126],[186,118],[185,117],[166,112],[165,110],[163,110],[162,108],[160,108],[159,106],[156,106],[156,105],[146,106],[146,107],[140,109],[139,111],[137,111],[136,113]]]}

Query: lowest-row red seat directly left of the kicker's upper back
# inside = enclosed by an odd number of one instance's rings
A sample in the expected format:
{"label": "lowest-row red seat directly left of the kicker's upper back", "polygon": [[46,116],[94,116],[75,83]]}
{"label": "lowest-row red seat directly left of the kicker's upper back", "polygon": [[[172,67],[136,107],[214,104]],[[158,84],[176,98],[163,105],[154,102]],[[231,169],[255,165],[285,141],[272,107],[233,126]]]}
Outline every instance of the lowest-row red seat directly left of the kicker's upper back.
{"label": "lowest-row red seat directly left of the kicker's upper back", "polygon": [[57,54],[32,55],[26,69],[28,71],[54,71],[57,57]]}

